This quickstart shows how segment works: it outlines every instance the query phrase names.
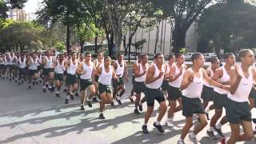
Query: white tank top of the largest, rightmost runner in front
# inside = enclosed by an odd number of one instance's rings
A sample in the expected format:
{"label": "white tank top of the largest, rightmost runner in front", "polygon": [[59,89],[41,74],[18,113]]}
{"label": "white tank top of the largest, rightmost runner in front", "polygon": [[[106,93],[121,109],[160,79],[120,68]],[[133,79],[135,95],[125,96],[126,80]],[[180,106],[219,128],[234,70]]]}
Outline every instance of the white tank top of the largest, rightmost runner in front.
{"label": "white tank top of the largest, rightmost runner in front", "polygon": [[235,102],[247,102],[250,94],[250,90],[253,86],[254,77],[251,71],[251,67],[249,68],[249,77],[246,78],[242,72],[242,67],[238,66],[238,71],[242,74],[242,79],[238,85],[238,90],[235,91],[234,94],[228,94],[228,98]]}

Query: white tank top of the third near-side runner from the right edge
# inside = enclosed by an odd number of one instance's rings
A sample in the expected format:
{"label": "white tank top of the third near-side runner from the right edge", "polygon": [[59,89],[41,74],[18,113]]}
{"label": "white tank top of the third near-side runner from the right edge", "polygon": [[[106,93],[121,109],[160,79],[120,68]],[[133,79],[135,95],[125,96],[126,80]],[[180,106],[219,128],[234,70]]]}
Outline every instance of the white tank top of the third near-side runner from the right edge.
{"label": "white tank top of the third near-side runner from the right edge", "polygon": [[[156,77],[158,77],[160,71],[158,70],[158,66],[156,64],[152,64],[152,65],[154,66],[154,78],[156,78]],[[148,87],[150,89],[158,89],[158,88],[160,88],[160,86],[162,86],[162,81],[165,76],[165,65],[161,66],[161,70],[162,70],[162,72],[164,72],[162,74],[162,77],[158,78],[158,80],[156,80],[152,83],[146,84],[146,87]]]}

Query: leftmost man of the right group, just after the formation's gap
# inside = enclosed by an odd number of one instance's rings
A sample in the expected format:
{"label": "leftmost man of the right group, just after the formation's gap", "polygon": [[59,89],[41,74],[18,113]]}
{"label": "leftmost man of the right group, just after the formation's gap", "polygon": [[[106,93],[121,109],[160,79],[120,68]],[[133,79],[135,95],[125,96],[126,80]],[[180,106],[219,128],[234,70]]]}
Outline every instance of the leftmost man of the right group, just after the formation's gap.
{"label": "leftmost man of the right group, just after the formation's gap", "polygon": [[[141,93],[144,93],[146,88],[146,72],[149,69],[148,56],[147,54],[142,54],[140,58],[141,62],[134,69],[134,92],[136,93],[135,99],[135,110],[134,114],[140,114],[138,109],[142,111],[142,103],[146,102],[146,98],[144,97],[141,101]],[[139,107],[139,108],[138,108]]]}

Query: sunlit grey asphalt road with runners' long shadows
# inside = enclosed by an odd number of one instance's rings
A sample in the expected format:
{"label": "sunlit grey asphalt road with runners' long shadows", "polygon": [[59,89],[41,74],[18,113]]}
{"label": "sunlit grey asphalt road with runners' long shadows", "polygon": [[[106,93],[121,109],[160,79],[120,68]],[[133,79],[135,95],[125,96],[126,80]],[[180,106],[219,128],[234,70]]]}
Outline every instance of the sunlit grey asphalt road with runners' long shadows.
{"label": "sunlit grey asphalt road with runners' long shadows", "polygon": [[[27,85],[18,86],[1,79],[0,143],[176,143],[185,122],[181,112],[174,116],[175,127],[170,129],[164,126],[166,133],[159,134],[153,126],[158,114],[156,102],[154,114],[148,124],[150,134],[142,134],[144,113],[133,113],[134,104],[128,100],[130,82],[126,83],[126,88],[122,106],[107,106],[104,112],[106,120],[99,120],[98,103],[94,103],[92,108],[86,106],[86,110],[81,111],[78,97],[65,105],[63,92],[61,98],[56,98],[50,92],[43,94],[41,85],[29,90]],[[143,106],[143,111],[145,110],[146,105]],[[213,112],[210,112],[211,116]],[[165,120],[166,116],[162,124]],[[223,132],[226,136],[230,135],[229,125],[223,126]],[[206,137],[206,129],[198,134],[198,140],[205,144],[218,143]],[[186,143],[192,142],[186,138]]]}

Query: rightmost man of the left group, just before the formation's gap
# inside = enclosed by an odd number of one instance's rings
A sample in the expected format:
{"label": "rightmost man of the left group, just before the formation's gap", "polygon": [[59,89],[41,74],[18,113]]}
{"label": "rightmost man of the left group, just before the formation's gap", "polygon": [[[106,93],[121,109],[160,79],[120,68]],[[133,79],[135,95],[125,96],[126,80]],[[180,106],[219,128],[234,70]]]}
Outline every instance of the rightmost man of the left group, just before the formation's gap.
{"label": "rightmost man of the left group, just before the formation's gap", "polygon": [[[122,97],[122,94],[125,94],[126,92],[126,86],[123,82],[123,77],[126,78],[127,82],[129,82],[127,66],[123,58],[124,58],[123,54],[118,54],[118,60],[115,61],[112,65],[114,67],[115,74],[117,74],[117,77],[118,77],[118,81],[114,79],[112,80],[113,99],[115,99],[119,105],[122,105],[121,97]],[[114,106],[114,102],[112,102],[111,105]]]}

